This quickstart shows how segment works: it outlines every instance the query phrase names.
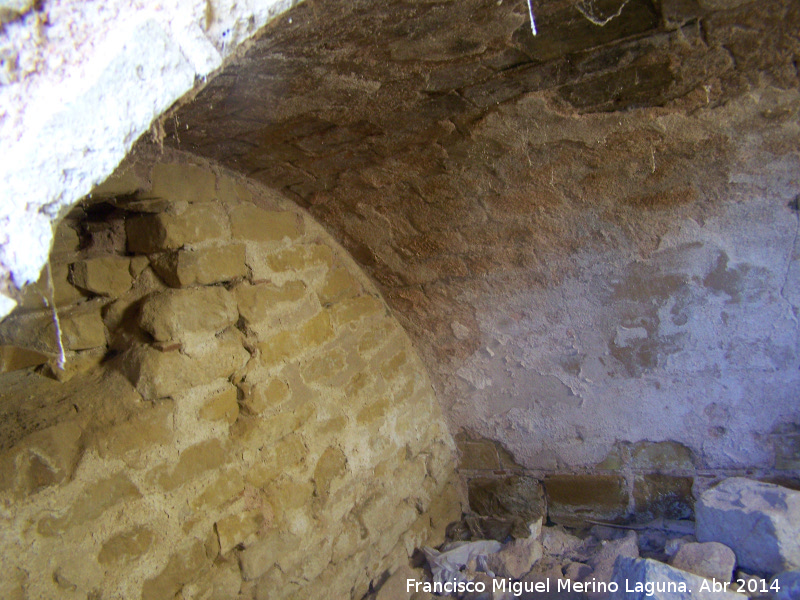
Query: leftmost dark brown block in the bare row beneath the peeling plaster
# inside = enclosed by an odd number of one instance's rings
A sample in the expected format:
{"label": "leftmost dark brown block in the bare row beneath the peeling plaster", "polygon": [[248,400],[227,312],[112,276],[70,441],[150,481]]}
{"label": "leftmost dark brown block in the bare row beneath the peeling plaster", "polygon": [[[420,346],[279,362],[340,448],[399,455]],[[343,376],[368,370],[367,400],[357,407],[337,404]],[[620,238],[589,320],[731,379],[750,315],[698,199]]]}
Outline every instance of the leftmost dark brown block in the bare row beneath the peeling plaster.
{"label": "leftmost dark brown block in the bare row beneath the peeling plaster", "polygon": [[544,489],[533,477],[470,479],[467,492],[470,508],[486,517],[518,517],[532,523],[546,514]]}

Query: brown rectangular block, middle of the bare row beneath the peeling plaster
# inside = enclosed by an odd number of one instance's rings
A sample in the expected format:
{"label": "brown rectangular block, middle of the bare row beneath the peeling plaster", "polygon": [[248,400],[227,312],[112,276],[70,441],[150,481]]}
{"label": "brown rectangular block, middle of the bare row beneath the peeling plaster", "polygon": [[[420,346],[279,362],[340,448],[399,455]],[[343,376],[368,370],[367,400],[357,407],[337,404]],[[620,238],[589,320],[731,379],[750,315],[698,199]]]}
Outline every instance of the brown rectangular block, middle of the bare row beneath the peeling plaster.
{"label": "brown rectangular block, middle of the bare row beneath the peeling plaster", "polygon": [[561,525],[585,519],[616,521],[628,512],[625,480],[618,475],[552,475],[545,478],[548,516]]}

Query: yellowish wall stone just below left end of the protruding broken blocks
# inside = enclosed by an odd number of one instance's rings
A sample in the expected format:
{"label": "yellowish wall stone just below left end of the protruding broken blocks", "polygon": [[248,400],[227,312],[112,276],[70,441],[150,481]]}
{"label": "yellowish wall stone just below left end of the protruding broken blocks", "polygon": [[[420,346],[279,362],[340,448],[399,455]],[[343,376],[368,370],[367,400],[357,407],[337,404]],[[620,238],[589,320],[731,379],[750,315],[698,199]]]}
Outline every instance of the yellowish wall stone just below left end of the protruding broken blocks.
{"label": "yellowish wall stone just below left end of the protruding broken blocks", "polygon": [[163,400],[142,410],[129,420],[97,434],[96,449],[101,458],[121,459],[128,466],[142,468],[144,454],[154,447],[172,442],[172,421],[175,405]]}

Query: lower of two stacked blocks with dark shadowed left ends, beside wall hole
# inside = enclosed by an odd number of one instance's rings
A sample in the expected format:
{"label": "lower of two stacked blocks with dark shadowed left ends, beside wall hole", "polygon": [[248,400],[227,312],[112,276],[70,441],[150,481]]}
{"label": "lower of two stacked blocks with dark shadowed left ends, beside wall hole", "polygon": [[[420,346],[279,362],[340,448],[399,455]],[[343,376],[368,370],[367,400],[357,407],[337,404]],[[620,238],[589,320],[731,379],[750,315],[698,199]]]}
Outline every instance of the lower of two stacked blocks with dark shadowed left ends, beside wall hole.
{"label": "lower of two stacked blocks with dark shadowed left ends, beside wall hole", "polygon": [[151,264],[170,287],[212,285],[247,275],[244,246],[238,244],[166,252],[152,257]]}

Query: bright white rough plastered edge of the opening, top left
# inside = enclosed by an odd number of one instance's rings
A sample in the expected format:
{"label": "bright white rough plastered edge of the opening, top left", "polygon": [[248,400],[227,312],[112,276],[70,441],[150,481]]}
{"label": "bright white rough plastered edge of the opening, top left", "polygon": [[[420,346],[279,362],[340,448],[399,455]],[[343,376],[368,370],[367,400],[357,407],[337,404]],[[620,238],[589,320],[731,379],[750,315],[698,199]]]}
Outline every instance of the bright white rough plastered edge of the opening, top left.
{"label": "bright white rough plastered edge of the opening, top left", "polygon": [[50,0],[0,52],[0,318],[36,281],[64,210],[173,103],[300,0]]}

